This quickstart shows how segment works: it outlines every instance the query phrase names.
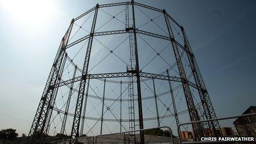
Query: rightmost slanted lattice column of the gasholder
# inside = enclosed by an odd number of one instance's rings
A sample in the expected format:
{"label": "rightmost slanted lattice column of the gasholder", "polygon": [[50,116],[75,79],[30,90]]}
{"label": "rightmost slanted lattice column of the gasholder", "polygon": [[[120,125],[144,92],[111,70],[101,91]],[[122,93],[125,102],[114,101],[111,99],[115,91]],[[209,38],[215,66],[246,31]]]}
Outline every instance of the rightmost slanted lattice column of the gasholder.
{"label": "rightmost slanted lattice column of the gasholder", "polygon": [[[204,80],[202,79],[202,75],[200,73],[198,64],[195,60],[195,56],[193,54],[191,46],[189,44],[188,37],[186,36],[183,26],[180,26],[180,29],[182,30],[182,34],[183,34],[183,38],[184,38],[184,47],[186,50],[188,50],[190,52],[190,54],[188,54],[188,52],[186,52],[186,55],[188,56],[188,59],[189,59],[189,64],[191,67],[191,71],[193,72],[196,86],[198,86],[198,92],[199,92],[202,106],[204,108],[205,117],[206,117],[206,119],[216,119],[217,116],[215,114],[214,106],[212,106],[211,99],[206,90]],[[214,133],[214,135],[211,134],[209,136],[221,135],[220,133],[218,133],[216,131],[216,129],[220,129],[220,124],[218,124],[218,121],[210,121],[210,122],[208,122],[208,125],[209,125],[209,128],[211,129],[210,132]]]}

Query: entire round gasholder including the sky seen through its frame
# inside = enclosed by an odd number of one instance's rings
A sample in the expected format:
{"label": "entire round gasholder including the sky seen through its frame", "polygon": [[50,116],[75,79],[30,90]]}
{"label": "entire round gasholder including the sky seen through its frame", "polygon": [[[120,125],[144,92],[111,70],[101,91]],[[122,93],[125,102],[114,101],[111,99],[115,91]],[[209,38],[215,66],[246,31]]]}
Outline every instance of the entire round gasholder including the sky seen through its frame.
{"label": "entire round gasholder including the sky seen through its frame", "polygon": [[[165,69],[158,66],[161,62]],[[121,68],[114,70],[112,65]],[[184,28],[166,10],[134,1],[97,4],[74,18],[61,40],[28,143],[44,141],[46,135],[65,138],[129,131],[129,90],[138,102],[132,105],[134,129],[174,127],[188,117],[190,121],[216,118]],[[196,138],[218,136],[219,128],[218,121],[184,127]]]}

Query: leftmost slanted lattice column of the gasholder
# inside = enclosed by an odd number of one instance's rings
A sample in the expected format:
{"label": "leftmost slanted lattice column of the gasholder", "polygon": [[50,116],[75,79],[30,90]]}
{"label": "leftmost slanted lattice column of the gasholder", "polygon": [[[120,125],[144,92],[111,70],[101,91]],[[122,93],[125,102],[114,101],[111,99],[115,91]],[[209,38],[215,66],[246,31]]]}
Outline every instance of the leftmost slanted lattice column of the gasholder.
{"label": "leftmost slanted lattice column of the gasholder", "polygon": [[58,74],[60,72],[61,63],[63,60],[63,56],[65,54],[68,39],[70,38],[73,23],[74,19],[72,19],[65,36],[63,36],[61,40],[61,44],[58,48],[54,64],[52,65],[49,77],[45,85],[44,92],[42,93],[38,109],[36,110],[36,114],[28,134],[27,143],[34,143],[35,134],[39,132],[39,134],[41,135],[45,129],[45,121],[47,119],[47,115],[49,114],[52,94],[54,93],[54,88],[57,84],[57,80],[59,77]]}

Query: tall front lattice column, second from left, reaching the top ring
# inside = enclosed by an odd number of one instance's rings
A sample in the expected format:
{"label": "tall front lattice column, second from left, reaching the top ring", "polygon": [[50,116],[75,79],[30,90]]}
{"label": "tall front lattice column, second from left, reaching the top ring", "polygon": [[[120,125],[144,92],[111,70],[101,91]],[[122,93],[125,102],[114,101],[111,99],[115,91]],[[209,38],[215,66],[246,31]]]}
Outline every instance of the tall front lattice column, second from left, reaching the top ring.
{"label": "tall front lattice column, second from left, reaching the top ring", "polygon": [[[90,30],[90,38],[88,40],[86,57],[84,60],[84,65],[83,65],[82,79],[81,79],[80,86],[79,86],[76,110],[74,111],[74,120],[73,120],[72,130],[71,130],[72,137],[79,136],[79,125],[80,125],[80,120],[81,120],[84,90],[85,90],[85,86],[86,86],[86,79],[87,79],[88,66],[89,66],[89,60],[90,60],[90,51],[92,49],[93,35],[94,35],[95,24],[96,24],[96,19],[97,19],[97,15],[98,15],[98,9],[99,9],[99,4],[96,5],[93,23],[92,23],[92,29]],[[74,142],[76,142],[76,141],[72,141],[72,143],[74,143]]]}

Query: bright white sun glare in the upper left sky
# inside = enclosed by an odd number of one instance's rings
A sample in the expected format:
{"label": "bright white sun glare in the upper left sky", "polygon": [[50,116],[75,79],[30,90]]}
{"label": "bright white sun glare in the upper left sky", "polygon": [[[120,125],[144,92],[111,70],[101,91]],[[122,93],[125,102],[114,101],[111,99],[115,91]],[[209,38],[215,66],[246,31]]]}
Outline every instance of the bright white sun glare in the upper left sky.
{"label": "bright white sun glare in the upper left sky", "polygon": [[0,0],[0,4],[10,17],[26,24],[42,23],[54,10],[50,0]]}

